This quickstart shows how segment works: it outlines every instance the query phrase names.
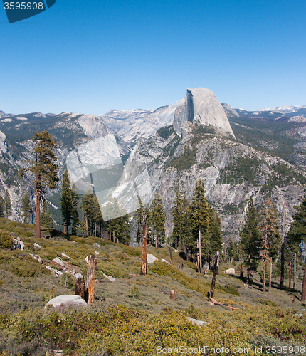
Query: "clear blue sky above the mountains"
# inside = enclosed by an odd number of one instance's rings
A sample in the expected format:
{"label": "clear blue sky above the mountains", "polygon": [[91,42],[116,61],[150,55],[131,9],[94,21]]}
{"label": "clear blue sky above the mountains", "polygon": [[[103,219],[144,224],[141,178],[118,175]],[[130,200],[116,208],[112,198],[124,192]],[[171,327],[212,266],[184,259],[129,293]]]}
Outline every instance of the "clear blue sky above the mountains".
{"label": "clear blue sky above the mountains", "polygon": [[57,0],[9,24],[0,4],[0,110],[98,115],[196,87],[234,108],[305,105],[305,18],[305,0]]}

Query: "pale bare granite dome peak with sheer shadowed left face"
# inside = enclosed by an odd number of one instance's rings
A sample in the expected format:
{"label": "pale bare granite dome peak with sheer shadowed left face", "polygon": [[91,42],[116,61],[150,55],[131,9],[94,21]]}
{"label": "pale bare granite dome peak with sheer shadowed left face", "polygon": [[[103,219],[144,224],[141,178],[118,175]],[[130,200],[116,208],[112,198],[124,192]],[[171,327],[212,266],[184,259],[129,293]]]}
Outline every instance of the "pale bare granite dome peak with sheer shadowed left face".
{"label": "pale bare granite dome peak with sheer shadowed left face", "polygon": [[186,121],[217,127],[235,137],[221,103],[206,88],[187,89],[184,104],[176,108],[174,114],[176,132],[181,133],[181,125]]}

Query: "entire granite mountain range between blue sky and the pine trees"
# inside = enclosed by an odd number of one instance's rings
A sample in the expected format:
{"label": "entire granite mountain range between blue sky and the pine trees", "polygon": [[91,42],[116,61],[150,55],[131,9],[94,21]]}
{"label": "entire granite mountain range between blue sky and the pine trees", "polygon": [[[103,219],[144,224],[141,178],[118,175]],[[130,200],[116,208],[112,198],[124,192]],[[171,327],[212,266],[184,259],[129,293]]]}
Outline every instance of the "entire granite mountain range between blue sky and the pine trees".
{"label": "entire granite mountain range between blue sky and the pine trees", "polygon": [[[252,195],[258,207],[269,195],[280,217],[285,201],[288,226],[306,185],[305,108],[297,109],[287,116],[280,111],[247,112],[221,105],[211,90],[196,88],[157,110],[111,110],[99,116],[3,113],[0,194],[9,190],[12,217],[20,221],[21,197],[31,187],[31,177],[21,179],[18,171],[32,157],[36,130],[48,130],[58,141],[60,176],[70,168],[80,192],[94,187],[104,200],[112,192],[132,212],[137,194],[149,204],[159,189],[168,235],[176,190],[190,198],[199,178],[221,214],[223,234],[237,237]],[[46,194],[58,228],[59,198],[60,189]]]}

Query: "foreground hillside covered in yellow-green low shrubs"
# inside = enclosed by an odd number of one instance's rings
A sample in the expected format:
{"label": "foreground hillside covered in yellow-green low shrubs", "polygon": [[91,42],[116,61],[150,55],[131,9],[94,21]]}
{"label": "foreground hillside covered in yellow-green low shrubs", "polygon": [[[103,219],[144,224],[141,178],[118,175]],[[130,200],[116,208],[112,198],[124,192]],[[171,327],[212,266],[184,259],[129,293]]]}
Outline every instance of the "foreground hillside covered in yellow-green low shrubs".
{"label": "foreground hillside covered in yellow-green low shrubs", "polygon": [[[263,293],[258,273],[248,288],[237,272],[233,276],[224,273],[227,268],[237,271],[235,264],[221,263],[215,295],[221,304],[211,306],[207,302],[211,271],[201,276],[193,263],[184,261],[182,272],[179,266],[183,261],[174,251],[174,266],[161,262],[162,258],[169,260],[166,248],[148,248],[159,261],[149,264],[147,276],[139,276],[140,248],[92,237],[70,236],[68,241],[54,230],[45,230],[45,239],[36,239],[35,226],[6,219],[0,219],[0,229],[11,231],[25,244],[23,251],[0,249],[0,352],[45,355],[56,348],[65,355],[155,355],[158,346],[215,345],[250,347],[249,355],[255,355],[255,347],[260,346],[293,345],[300,350],[306,335],[305,303],[298,300],[298,290],[279,290],[273,282],[271,293]],[[74,294],[73,283],[65,286],[69,279],[44,266],[59,270],[62,267],[51,262],[58,257],[68,271],[84,274],[88,253],[97,256],[93,305],[85,310],[43,310],[54,296]],[[41,257],[42,264],[33,256]],[[139,290],[134,297],[133,288]],[[175,290],[175,300],[170,300],[170,290]],[[191,325],[186,316],[209,325]],[[118,338],[120,343],[115,341]]]}

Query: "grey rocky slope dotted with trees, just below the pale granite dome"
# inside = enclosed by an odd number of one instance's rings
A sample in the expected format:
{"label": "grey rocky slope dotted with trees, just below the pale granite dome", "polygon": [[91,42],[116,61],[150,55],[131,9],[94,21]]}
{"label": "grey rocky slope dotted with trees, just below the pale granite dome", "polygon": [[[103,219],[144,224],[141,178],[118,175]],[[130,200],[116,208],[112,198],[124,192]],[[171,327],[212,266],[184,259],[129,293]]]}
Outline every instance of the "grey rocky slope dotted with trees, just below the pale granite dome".
{"label": "grey rocky slope dotted with trees, just below the pale granite dome", "polygon": [[[191,199],[200,178],[204,179],[208,201],[221,215],[226,236],[238,238],[252,196],[259,207],[269,195],[280,217],[285,202],[288,228],[293,206],[299,204],[303,193],[304,170],[220,132],[205,132],[205,128],[191,122],[184,123],[182,132],[182,139],[174,130],[167,139],[157,133],[151,140],[139,142],[130,156],[131,160],[147,164],[152,188],[159,189],[163,197],[168,236],[172,232],[171,209],[176,190]],[[284,170],[287,177],[282,173]]]}

